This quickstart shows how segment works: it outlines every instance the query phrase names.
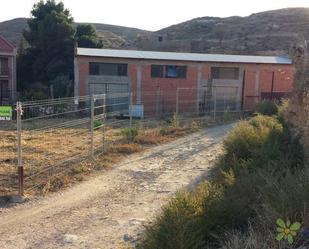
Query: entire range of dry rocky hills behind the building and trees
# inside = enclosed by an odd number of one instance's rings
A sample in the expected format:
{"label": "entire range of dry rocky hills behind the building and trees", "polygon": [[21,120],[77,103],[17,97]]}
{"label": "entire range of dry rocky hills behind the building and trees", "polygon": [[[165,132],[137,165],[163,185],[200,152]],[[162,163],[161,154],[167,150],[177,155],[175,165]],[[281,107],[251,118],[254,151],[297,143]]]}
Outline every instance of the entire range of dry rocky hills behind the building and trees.
{"label": "entire range of dry rocky hills behind the building and trees", "polygon": [[[19,44],[27,19],[0,23],[0,34]],[[290,8],[247,17],[200,17],[156,32],[94,24],[105,48],[205,53],[287,54],[309,39],[309,8]]]}

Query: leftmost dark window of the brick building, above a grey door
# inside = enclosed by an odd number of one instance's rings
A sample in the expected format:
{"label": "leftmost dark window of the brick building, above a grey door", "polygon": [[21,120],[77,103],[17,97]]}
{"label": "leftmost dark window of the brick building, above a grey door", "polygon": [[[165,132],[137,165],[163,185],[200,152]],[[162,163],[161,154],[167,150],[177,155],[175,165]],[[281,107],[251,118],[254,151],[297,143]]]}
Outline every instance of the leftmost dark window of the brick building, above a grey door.
{"label": "leftmost dark window of the brick building, above a grey door", "polygon": [[89,63],[90,75],[127,76],[128,65],[117,63]]}

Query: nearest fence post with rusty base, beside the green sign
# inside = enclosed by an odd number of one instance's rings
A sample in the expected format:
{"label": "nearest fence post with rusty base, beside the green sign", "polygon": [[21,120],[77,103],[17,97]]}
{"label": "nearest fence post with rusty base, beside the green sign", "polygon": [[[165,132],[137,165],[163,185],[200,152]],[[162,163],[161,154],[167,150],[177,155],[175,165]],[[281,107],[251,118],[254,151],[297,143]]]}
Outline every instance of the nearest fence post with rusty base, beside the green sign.
{"label": "nearest fence post with rusty base, beside the green sign", "polygon": [[24,167],[22,163],[22,144],[21,144],[21,116],[23,115],[22,103],[16,103],[16,113],[17,113],[17,168],[18,168],[18,195],[24,195]]}

